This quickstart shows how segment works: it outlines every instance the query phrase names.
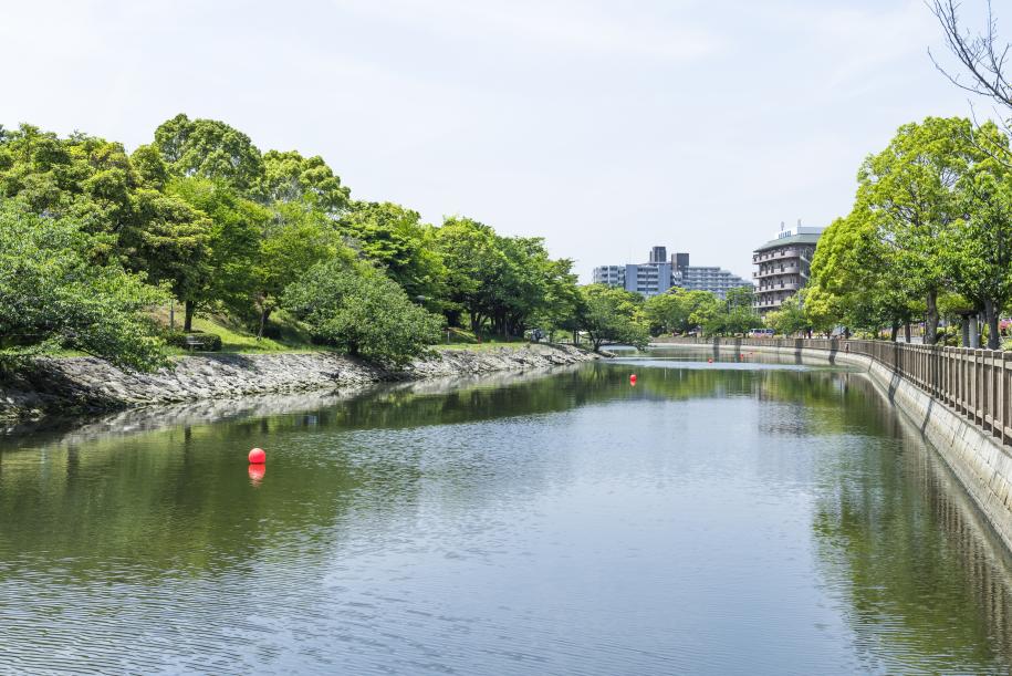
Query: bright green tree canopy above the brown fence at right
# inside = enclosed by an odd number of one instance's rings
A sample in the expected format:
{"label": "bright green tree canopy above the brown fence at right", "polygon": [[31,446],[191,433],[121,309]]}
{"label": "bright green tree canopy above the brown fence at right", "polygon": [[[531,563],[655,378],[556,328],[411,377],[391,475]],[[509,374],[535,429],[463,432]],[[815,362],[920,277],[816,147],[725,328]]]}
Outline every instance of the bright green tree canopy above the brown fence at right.
{"label": "bright green tree canopy above the brown fence at right", "polygon": [[[995,125],[928,117],[903,125],[858,173],[854,207],[822,236],[804,311],[813,326],[875,335],[925,319],[933,343],[942,300],[985,315],[1000,346],[1012,302],[1012,190]],[[948,303],[951,304],[951,303]]]}

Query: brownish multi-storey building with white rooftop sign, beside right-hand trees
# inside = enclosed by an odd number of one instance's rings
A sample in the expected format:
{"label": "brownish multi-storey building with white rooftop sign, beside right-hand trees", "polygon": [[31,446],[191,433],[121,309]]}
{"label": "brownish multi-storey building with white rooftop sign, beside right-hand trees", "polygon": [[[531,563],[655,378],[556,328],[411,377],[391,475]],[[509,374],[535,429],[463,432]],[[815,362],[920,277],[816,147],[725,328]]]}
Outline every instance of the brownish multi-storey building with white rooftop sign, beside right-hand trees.
{"label": "brownish multi-storey building with white rooftop sign, beside right-hand trees", "polygon": [[755,249],[752,263],[759,269],[752,277],[755,279],[755,310],[760,314],[776,310],[807,283],[815,245],[824,230],[802,226],[801,221],[794,228],[784,228],[781,223],[776,239]]}

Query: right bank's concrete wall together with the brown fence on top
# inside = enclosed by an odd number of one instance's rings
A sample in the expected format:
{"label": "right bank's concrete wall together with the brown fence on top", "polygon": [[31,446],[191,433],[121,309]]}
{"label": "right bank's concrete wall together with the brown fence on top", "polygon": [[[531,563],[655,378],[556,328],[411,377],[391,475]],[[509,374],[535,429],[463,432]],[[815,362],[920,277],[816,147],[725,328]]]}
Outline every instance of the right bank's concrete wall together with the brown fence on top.
{"label": "right bank's concrete wall together with the brown fence on top", "polygon": [[825,339],[672,337],[657,344],[857,366],[917,424],[1012,552],[1012,356],[992,350]]}

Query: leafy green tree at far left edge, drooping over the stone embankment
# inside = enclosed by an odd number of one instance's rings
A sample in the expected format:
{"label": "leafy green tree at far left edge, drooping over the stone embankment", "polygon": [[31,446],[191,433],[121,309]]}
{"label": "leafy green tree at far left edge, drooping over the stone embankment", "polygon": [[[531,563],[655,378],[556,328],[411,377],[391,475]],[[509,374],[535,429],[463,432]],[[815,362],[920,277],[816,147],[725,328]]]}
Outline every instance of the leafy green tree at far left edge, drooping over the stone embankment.
{"label": "leafy green tree at far left edge, drooping over the stone embankment", "polygon": [[144,311],[167,293],[88,258],[93,237],[70,219],[0,201],[0,365],[62,346],[129,368],[165,363]]}

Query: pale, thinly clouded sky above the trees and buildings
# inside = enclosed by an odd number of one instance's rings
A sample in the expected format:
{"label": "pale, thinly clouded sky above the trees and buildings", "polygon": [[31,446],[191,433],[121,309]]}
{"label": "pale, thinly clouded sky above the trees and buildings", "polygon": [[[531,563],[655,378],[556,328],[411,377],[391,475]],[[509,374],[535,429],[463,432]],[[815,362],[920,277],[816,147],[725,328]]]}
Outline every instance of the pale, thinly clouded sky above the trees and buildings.
{"label": "pale, thinly clouded sky above the trees and buildings", "polygon": [[781,221],[849,210],[862,159],[899,125],[971,114],[928,56],[943,48],[922,0],[2,10],[7,127],[133,149],[177,113],[222,119],[264,152],[323,156],[356,199],[544,237],[583,281],[654,245],[749,278]]}

